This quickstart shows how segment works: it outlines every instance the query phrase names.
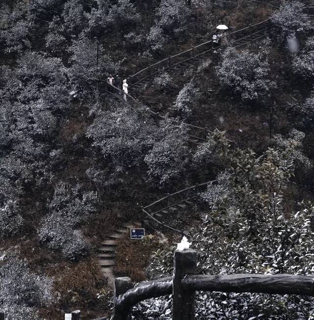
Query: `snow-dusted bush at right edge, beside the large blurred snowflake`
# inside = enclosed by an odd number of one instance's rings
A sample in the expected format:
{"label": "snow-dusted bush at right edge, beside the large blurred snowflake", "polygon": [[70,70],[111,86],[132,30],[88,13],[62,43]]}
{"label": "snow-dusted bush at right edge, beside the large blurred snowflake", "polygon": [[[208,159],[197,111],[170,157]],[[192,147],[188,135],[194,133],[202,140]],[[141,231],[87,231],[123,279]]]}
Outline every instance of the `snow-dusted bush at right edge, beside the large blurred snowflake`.
{"label": "snow-dusted bush at right edge, beside the large blurred snowflake", "polygon": [[292,70],[305,80],[314,80],[314,37],[307,39],[305,48],[292,60]]}

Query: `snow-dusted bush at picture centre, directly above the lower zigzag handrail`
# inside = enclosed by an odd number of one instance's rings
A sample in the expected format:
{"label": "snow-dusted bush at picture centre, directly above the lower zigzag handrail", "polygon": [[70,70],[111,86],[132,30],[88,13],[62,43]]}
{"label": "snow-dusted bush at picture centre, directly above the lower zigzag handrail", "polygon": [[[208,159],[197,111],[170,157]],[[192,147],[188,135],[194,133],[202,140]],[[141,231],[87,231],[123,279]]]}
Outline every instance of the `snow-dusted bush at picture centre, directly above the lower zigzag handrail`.
{"label": "snow-dusted bush at picture centre, directly above the lower zigzag handrail", "polygon": [[160,138],[145,156],[149,178],[160,187],[183,175],[188,159],[187,129],[174,128],[169,122],[161,124]]}

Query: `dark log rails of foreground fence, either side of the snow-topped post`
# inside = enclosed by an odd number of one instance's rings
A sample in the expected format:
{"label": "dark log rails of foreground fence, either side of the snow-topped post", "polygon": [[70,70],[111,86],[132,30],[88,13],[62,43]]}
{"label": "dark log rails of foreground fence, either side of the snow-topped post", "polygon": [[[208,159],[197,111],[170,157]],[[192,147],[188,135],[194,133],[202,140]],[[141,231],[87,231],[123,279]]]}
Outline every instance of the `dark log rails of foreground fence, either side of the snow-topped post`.
{"label": "dark log rails of foreground fence, either side of the snow-topped post", "polygon": [[[227,274],[186,275],[180,283],[187,292],[251,292],[266,294],[301,294],[314,296],[313,275],[294,274]],[[171,294],[174,291],[173,278],[164,278],[139,284],[116,297],[115,312],[129,312],[140,301]],[[113,317],[112,319],[120,319]]]}

